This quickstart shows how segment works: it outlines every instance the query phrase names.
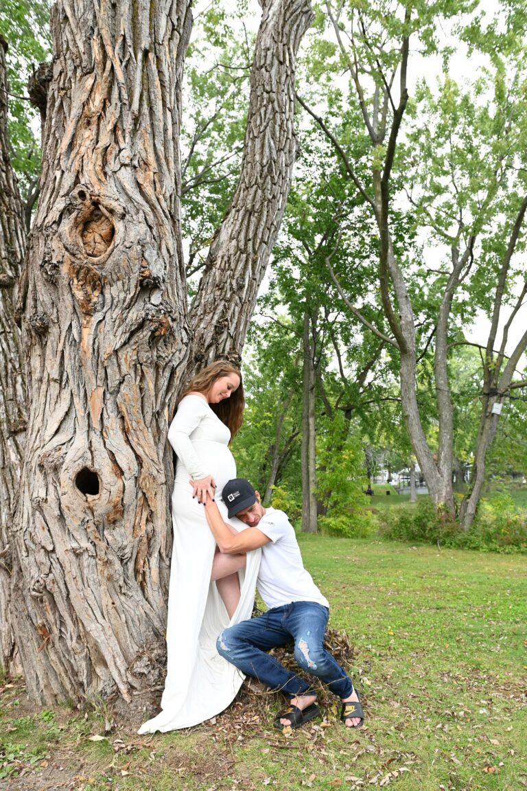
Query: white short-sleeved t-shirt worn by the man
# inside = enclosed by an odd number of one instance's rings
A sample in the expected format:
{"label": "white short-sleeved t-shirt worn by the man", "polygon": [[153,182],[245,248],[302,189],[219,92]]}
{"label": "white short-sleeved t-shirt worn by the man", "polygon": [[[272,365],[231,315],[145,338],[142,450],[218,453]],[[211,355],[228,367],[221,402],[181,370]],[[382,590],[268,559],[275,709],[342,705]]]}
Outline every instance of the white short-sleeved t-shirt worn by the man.
{"label": "white short-sleeved t-shirt worn by the man", "polygon": [[295,529],[284,512],[268,508],[257,528],[271,539],[262,547],[256,583],[267,607],[282,607],[293,601],[316,601],[329,607],[311,574],[303,567]]}

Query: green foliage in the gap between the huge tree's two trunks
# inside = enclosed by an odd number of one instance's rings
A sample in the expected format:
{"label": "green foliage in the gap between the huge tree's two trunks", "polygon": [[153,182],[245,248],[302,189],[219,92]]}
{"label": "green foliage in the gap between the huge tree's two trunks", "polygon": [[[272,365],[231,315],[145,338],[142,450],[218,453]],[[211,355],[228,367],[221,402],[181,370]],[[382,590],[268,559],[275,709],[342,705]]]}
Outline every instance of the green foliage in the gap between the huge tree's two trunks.
{"label": "green foliage in the gap between the huge tree's two trunks", "polygon": [[252,47],[242,19],[240,9],[211,3],[194,22],[186,55],[180,145],[189,274],[205,262],[239,176]]}

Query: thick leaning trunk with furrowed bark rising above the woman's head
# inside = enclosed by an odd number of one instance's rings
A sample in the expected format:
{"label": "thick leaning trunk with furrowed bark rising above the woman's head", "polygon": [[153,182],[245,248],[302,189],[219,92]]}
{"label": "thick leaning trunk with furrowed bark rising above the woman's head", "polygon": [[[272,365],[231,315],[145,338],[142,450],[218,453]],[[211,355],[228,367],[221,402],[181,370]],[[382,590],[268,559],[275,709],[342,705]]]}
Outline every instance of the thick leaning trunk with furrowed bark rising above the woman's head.
{"label": "thick leaning trunk with furrowed bark rising above the woman's head", "polygon": [[239,357],[292,178],[296,53],[311,0],[261,0],[243,160],[231,206],[210,246],[190,323],[196,367]]}

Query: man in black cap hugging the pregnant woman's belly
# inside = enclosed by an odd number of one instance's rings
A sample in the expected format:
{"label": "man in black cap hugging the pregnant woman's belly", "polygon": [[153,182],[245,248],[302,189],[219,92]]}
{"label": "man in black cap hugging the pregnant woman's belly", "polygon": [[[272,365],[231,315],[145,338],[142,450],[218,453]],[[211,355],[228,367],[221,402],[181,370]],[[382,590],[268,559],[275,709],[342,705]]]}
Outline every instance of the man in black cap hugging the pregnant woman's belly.
{"label": "man in black cap hugging the pregnant woman's belly", "polygon": [[[229,481],[222,492],[229,518],[238,517],[248,528],[233,535],[216,503],[208,499],[205,513],[220,551],[239,554],[262,547],[258,592],[269,610],[258,618],[225,629],[218,638],[222,657],[287,694],[290,706],[274,722],[276,728],[298,728],[319,714],[317,696],[294,672],[284,668],[269,649],[295,643],[299,667],[317,676],[342,701],[341,720],[348,728],[363,724],[363,710],[352,680],[323,647],[329,605],[304,569],[295,531],[283,511],[265,509],[249,481]],[[258,527],[257,527],[258,525]]]}

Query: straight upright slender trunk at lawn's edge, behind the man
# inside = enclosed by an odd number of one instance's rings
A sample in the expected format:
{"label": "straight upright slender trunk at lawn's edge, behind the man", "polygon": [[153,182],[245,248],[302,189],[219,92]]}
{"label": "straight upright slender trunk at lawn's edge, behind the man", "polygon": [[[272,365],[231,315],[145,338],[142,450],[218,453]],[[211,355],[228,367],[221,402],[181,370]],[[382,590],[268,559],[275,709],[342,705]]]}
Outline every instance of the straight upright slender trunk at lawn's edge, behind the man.
{"label": "straight upright slender trunk at lawn's edge, behind the man", "polygon": [[316,533],[316,448],[314,421],[314,346],[311,316],[306,308],[303,321],[303,414],[302,414],[302,532]]}

